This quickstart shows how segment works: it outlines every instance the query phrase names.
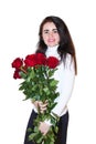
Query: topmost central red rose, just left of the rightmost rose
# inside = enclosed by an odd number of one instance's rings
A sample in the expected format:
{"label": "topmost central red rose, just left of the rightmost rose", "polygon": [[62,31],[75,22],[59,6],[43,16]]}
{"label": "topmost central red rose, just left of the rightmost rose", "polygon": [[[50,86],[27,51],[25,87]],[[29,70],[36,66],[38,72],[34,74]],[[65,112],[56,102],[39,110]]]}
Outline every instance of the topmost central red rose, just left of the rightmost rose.
{"label": "topmost central red rose, just left of the rightmost rose", "polygon": [[39,65],[45,65],[46,64],[46,56],[43,53],[36,53],[36,63]]}

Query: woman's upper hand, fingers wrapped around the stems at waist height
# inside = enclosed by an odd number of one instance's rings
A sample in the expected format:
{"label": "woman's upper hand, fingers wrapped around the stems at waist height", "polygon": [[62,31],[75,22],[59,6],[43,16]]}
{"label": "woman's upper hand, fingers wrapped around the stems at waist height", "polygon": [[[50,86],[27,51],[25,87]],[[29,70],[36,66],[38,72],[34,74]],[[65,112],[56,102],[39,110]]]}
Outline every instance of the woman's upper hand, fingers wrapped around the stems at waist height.
{"label": "woman's upper hand, fingers wrapped around the stems at waist height", "polygon": [[40,110],[41,113],[44,113],[44,111],[47,109],[47,101],[45,101],[44,103],[41,102],[41,101],[35,101],[35,102],[32,102],[34,104],[34,106],[36,109]]}

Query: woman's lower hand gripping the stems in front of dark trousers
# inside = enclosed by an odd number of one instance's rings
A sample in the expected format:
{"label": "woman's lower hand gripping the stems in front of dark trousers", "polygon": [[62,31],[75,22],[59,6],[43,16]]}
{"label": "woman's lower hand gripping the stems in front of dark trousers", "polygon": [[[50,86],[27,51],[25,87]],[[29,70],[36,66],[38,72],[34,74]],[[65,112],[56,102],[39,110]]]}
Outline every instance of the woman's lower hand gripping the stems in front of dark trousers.
{"label": "woman's lower hand gripping the stems in front of dark trousers", "polygon": [[43,135],[45,135],[49,132],[49,130],[50,130],[50,125],[46,124],[45,122],[40,122],[39,130],[41,131],[41,133]]}

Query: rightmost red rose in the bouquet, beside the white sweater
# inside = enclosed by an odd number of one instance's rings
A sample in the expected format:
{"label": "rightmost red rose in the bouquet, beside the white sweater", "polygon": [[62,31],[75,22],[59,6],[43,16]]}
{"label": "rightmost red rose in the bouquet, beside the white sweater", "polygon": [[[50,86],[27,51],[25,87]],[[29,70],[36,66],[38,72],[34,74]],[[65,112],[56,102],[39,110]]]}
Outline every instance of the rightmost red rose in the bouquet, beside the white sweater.
{"label": "rightmost red rose in the bouquet, beside the white sweater", "polygon": [[58,65],[58,59],[55,56],[49,56],[46,61],[46,65],[51,69],[55,69]]}

